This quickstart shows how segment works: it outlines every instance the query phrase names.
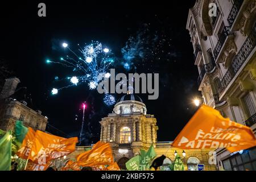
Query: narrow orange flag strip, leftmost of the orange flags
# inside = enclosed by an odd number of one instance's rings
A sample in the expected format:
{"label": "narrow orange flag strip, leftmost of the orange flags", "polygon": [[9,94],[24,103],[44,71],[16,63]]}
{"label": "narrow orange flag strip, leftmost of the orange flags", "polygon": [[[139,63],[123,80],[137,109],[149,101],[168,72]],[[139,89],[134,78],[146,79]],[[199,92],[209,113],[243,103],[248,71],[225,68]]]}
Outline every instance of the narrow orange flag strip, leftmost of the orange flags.
{"label": "narrow orange flag strip, leftmost of the orange flags", "polygon": [[35,131],[31,127],[28,127],[26,137],[23,139],[22,146],[20,146],[18,152],[16,152],[16,155],[18,155],[22,159],[27,159],[28,155],[30,155],[34,138]]}

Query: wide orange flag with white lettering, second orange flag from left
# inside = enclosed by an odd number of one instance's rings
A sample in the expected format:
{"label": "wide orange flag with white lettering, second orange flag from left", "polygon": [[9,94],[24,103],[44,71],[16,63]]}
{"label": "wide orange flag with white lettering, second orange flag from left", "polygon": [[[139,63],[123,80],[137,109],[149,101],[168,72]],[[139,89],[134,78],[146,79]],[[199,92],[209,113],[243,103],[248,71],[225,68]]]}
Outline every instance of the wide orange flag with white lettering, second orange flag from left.
{"label": "wide orange flag with white lettering, second orange flag from left", "polygon": [[49,160],[75,151],[77,141],[77,137],[66,139],[37,130],[28,159],[34,163],[46,164]]}

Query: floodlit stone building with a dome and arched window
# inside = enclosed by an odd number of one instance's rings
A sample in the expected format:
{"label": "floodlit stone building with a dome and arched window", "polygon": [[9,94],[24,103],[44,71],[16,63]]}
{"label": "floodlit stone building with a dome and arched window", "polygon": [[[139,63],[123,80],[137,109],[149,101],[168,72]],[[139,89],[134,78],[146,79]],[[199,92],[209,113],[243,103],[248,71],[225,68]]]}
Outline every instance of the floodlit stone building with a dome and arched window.
{"label": "floodlit stone building with a dome and arched window", "polygon": [[[154,115],[147,114],[146,105],[140,97],[134,94],[121,97],[115,104],[113,113],[102,118],[100,123],[100,140],[111,144],[114,160],[123,169],[126,169],[125,163],[130,158],[140,154],[140,149],[148,150],[153,144],[157,156],[167,156],[164,160],[163,170],[169,169],[168,166],[175,160],[175,154],[184,155],[182,161],[186,170],[196,171],[197,164],[203,164],[207,171],[216,170],[216,165],[209,163],[213,160],[213,155],[209,150],[183,151],[172,147],[172,142],[158,142],[156,118]],[[75,152],[67,156],[65,162],[75,159],[88,147],[77,147]]]}

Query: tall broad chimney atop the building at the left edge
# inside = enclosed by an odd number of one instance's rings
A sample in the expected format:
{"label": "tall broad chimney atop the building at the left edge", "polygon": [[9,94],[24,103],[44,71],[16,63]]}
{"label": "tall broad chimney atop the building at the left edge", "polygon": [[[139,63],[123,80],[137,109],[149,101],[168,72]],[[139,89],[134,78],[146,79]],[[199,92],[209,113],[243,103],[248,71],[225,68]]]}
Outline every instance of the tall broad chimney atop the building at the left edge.
{"label": "tall broad chimney atop the building at the left edge", "polygon": [[0,94],[0,99],[8,98],[12,94],[14,94],[19,82],[20,82],[19,78],[16,78],[16,77],[5,79],[5,85],[3,85],[3,89]]}

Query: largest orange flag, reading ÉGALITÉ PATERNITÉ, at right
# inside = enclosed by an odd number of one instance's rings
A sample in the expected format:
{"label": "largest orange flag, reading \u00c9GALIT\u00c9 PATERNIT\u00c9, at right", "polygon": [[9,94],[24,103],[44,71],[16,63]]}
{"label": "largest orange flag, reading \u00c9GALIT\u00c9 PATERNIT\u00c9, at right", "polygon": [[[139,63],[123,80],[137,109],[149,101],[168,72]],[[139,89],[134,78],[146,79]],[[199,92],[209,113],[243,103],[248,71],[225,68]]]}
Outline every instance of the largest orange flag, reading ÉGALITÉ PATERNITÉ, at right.
{"label": "largest orange flag, reading \u00c9GALIT\u00c9 PATERNIT\u00c9, at right", "polygon": [[182,149],[227,148],[230,152],[256,146],[250,127],[222,117],[219,111],[203,105],[176,137],[172,146]]}

